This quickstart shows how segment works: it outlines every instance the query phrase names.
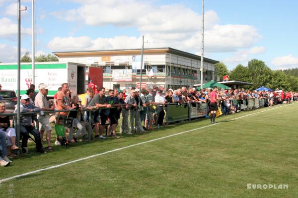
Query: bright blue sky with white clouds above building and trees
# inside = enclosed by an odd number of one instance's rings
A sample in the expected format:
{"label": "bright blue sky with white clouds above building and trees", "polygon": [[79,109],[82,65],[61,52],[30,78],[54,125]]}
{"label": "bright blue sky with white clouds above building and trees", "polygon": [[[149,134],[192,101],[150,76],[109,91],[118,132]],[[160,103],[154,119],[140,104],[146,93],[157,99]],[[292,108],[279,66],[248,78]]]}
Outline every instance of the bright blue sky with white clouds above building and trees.
{"label": "bright blue sky with white clouds above building and trees", "polygon": [[[17,0],[0,0],[0,62],[17,61]],[[21,54],[32,49],[32,0],[21,0]],[[205,0],[204,57],[298,67],[298,1]],[[36,56],[171,47],[201,55],[202,0],[35,0]]]}

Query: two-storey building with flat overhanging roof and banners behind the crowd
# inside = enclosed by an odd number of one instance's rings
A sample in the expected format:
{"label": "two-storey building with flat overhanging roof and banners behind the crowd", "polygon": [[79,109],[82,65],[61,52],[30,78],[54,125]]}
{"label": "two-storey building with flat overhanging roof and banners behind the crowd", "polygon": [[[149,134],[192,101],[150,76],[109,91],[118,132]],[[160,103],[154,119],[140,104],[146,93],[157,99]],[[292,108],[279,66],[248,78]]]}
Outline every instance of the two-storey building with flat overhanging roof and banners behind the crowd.
{"label": "two-storey building with flat overhanging roof and banners behind the crowd", "polygon": [[[103,67],[103,86],[107,89],[140,85],[141,49],[53,53],[61,62]],[[144,49],[143,59],[142,88],[152,85],[177,88],[200,83],[200,56],[166,47]],[[217,63],[219,62],[204,58],[204,82],[214,80],[214,65]]]}

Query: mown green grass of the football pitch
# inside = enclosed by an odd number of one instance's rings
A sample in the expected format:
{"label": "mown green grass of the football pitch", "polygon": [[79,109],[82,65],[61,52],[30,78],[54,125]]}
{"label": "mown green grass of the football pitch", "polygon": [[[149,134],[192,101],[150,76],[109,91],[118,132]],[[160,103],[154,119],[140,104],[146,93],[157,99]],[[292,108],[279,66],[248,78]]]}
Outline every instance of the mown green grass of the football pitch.
{"label": "mown green grass of the football pitch", "polygon": [[[286,104],[221,117],[206,128],[210,121],[200,119],[143,135],[54,146],[42,155],[31,148],[1,167],[0,179],[193,130],[3,182],[0,197],[296,198],[297,112],[298,103]],[[288,189],[247,189],[250,183]]]}

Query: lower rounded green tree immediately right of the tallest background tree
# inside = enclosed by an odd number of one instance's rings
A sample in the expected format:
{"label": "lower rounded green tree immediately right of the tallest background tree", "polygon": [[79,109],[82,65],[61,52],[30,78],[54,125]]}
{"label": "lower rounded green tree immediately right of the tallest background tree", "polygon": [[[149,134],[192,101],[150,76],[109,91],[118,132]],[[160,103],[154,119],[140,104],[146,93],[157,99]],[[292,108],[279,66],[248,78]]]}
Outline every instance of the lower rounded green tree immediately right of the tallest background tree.
{"label": "lower rounded green tree immediately right of the tallest background tree", "polygon": [[289,79],[289,76],[287,76],[283,71],[281,70],[272,71],[271,80],[267,82],[266,87],[271,89],[279,88],[279,89],[289,90],[290,83],[288,79]]}

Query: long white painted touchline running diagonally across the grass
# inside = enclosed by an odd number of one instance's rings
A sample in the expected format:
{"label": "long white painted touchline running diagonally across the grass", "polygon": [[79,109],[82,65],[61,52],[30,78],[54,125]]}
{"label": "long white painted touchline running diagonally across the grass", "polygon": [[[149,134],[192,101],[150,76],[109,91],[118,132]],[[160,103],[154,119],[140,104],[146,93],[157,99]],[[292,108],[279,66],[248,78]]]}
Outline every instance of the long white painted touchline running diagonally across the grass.
{"label": "long white painted touchline running diagonally across the grass", "polygon": [[[247,117],[247,116],[251,116],[251,115],[254,115],[254,114],[258,114],[258,113],[262,113],[262,112],[265,112],[265,111],[270,111],[270,110],[274,110],[274,109],[278,109],[280,107],[286,107],[286,106],[289,106],[289,105],[282,105],[282,106],[279,106],[279,107],[270,108],[270,109],[267,109],[267,110],[264,110],[264,111],[260,111],[260,112],[248,114],[248,115],[241,116],[241,117],[238,117],[238,118],[233,118],[233,119],[230,119],[230,120],[227,120],[227,121],[237,120],[237,119],[240,119],[240,118],[244,118],[244,117]],[[85,160],[85,159],[90,159],[90,158],[93,158],[93,157],[105,155],[105,154],[112,153],[112,152],[119,151],[119,150],[123,150],[123,149],[126,149],[126,148],[138,146],[138,145],[141,145],[141,144],[145,144],[145,143],[157,141],[157,140],[168,138],[168,137],[172,137],[172,136],[175,136],[175,135],[180,135],[180,134],[187,133],[187,132],[193,132],[193,131],[196,131],[196,130],[205,129],[207,127],[213,127],[213,126],[222,124],[224,122],[226,122],[226,121],[223,121],[223,122],[220,122],[220,123],[216,123],[216,124],[207,125],[205,127],[200,127],[200,128],[197,128],[197,129],[188,130],[188,131],[185,131],[185,132],[178,132],[178,133],[167,135],[167,136],[164,136],[164,137],[159,137],[159,138],[156,138],[156,139],[151,139],[149,141],[143,141],[143,142],[140,142],[140,143],[137,143],[137,144],[132,144],[132,145],[129,145],[129,146],[125,146],[125,147],[122,147],[122,148],[117,148],[117,149],[109,150],[109,151],[106,151],[106,152],[103,152],[103,153],[99,153],[99,154],[95,154],[95,155],[90,155],[90,156],[87,156],[87,157],[79,158],[79,159],[76,159],[76,160],[73,160],[73,161],[69,161],[69,162],[66,162],[66,163],[63,163],[63,164],[58,164],[58,165],[55,165],[55,166],[50,166],[50,167],[47,167],[47,168],[42,168],[42,169],[38,169],[38,170],[35,170],[35,171],[30,171],[30,172],[23,173],[23,174],[20,174],[20,175],[15,175],[15,176],[12,176],[12,177],[1,179],[0,180],[0,183],[9,181],[9,180],[12,180],[12,179],[15,179],[15,178],[23,177],[23,176],[26,176],[26,175],[31,175],[31,174],[34,174],[34,173],[38,173],[38,172],[41,172],[41,171],[46,171],[46,170],[50,170],[50,169],[53,169],[53,168],[58,168],[58,167],[65,166],[65,165],[68,165],[68,164],[72,164],[72,163],[75,163],[75,162],[79,162],[79,161],[82,161],[82,160]]]}

